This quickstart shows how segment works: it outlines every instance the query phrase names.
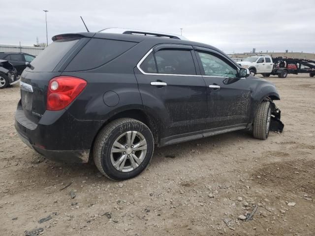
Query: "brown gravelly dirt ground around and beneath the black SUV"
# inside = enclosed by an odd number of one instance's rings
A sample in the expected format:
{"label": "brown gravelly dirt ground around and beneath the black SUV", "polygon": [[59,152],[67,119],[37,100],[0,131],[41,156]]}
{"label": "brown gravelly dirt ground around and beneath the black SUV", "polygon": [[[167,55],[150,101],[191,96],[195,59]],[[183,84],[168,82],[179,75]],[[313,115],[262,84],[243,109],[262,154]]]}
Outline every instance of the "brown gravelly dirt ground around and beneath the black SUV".
{"label": "brown gravelly dirt ground around and beneath the black SUV", "polygon": [[[19,88],[0,89],[0,234],[314,236],[315,79],[268,80],[282,98],[282,134],[260,141],[238,131],[156,148],[150,166],[123,182],[24,145],[14,128]],[[255,206],[252,220],[238,219]]]}

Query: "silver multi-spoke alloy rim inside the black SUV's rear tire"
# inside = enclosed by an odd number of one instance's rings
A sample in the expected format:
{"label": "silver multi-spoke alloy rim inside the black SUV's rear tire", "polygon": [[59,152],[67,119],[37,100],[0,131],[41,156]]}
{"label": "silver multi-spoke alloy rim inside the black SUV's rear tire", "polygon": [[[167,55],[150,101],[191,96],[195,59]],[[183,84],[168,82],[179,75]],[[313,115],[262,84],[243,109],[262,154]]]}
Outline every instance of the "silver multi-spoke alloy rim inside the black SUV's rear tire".
{"label": "silver multi-spoke alloy rim inside the black SUV's rear tire", "polygon": [[147,141],[138,131],[127,131],[114,142],[110,160],[114,168],[130,172],[141,165],[147,153]]}

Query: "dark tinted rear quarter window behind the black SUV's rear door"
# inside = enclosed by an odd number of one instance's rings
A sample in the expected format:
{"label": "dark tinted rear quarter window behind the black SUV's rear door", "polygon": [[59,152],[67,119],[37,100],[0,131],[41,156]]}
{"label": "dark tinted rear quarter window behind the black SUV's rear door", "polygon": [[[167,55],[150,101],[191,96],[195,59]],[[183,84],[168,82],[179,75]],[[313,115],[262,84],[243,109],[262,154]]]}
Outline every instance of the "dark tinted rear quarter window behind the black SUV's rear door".
{"label": "dark tinted rear quarter window behind the black SUV's rear door", "polygon": [[92,38],[69,63],[64,71],[90,70],[125,53],[137,43]]}

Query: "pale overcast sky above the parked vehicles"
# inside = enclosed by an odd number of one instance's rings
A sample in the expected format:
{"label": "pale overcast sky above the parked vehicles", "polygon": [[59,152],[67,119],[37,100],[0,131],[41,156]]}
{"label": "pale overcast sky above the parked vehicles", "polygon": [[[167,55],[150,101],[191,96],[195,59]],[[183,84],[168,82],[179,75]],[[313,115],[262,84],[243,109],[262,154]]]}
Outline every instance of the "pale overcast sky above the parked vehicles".
{"label": "pale overcast sky above the parked vehicles", "polygon": [[[189,4],[190,2],[190,4]],[[0,44],[121,27],[171,32],[226,53],[315,53],[315,0],[1,0]]]}

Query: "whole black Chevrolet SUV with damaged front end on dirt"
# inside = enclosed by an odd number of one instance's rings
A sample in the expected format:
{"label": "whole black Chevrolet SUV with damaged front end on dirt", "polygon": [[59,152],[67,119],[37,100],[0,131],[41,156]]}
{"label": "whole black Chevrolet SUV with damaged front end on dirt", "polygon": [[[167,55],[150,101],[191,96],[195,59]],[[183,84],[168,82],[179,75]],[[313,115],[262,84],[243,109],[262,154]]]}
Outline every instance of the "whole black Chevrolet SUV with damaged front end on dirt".
{"label": "whole black Chevrolet SUV with damaged front end on dirt", "polygon": [[212,46],[167,35],[56,35],[21,76],[15,127],[49,159],[140,174],[162,147],[248,129],[282,131],[275,86]]}

